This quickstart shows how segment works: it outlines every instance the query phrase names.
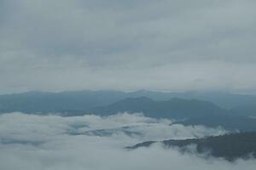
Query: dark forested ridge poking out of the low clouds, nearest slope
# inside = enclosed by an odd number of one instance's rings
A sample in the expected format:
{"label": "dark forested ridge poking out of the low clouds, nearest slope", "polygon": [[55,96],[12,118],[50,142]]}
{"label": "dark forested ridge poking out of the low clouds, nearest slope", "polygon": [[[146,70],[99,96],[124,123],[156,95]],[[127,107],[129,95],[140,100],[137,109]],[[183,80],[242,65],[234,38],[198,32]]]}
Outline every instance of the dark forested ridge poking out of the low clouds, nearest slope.
{"label": "dark forested ridge poking out of the low clouds, nearest slope", "polygon": [[[127,149],[135,150],[140,147],[148,147],[156,141],[148,141],[136,144]],[[198,153],[210,152],[210,156],[223,157],[229,161],[237,158],[256,157],[256,133],[231,133],[204,139],[165,140],[160,142],[166,147],[178,147],[181,152],[192,152],[189,150],[191,144],[195,144]]]}

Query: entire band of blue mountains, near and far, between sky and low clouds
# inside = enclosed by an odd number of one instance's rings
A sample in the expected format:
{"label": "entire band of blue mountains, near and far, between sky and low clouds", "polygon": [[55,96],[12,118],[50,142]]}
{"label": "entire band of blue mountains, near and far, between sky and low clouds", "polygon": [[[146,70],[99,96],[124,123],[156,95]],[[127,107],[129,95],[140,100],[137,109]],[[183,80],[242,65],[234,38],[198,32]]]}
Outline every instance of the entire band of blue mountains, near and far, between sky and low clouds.
{"label": "entire band of blue mountains, near and far, between sky and low clouds", "polygon": [[109,116],[121,112],[141,112],[149,117],[174,119],[174,123],[184,125],[220,126],[243,132],[256,130],[254,104],[255,95],[220,92],[76,91],[0,95],[0,113],[21,111],[41,115]]}

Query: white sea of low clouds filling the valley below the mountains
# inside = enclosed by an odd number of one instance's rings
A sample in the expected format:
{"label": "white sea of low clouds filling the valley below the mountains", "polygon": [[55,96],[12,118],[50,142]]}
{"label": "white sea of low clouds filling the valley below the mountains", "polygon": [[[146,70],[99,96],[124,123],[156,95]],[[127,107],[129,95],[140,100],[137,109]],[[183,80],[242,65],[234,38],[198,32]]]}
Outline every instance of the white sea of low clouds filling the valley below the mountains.
{"label": "white sea of low clouds filling the valley below the mountains", "polygon": [[125,150],[148,140],[191,139],[227,133],[223,128],[183,126],[142,114],[114,116],[0,116],[2,170],[255,169],[254,160],[225,161],[182,154],[161,144]]}

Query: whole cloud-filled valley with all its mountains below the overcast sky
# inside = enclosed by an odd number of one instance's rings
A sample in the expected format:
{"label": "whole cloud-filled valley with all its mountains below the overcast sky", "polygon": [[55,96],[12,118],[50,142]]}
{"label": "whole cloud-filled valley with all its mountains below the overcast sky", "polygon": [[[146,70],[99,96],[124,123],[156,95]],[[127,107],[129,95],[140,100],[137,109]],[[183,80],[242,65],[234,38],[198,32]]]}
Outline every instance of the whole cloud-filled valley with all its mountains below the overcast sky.
{"label": "whole cloud-filled valley with all its mountains below the overcast sky", "polygon": [[0,95],[0,169],[255,168],[255,96],[192,94]]}

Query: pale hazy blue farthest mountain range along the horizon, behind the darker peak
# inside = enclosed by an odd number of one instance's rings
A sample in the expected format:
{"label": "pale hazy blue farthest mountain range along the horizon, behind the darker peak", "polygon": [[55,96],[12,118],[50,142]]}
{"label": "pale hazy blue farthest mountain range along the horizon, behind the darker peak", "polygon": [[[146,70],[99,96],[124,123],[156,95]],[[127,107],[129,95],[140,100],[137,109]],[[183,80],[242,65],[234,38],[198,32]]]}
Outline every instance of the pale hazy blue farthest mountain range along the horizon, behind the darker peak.
{"label": "pale hazy blue farthest mountain range along the horizon, behind the darker peak", "polygon": [[60,93],[26,92],[0,95],[0,112],[55,112],[89,111],[96,106],[111,105],[121,99],[148,97],[156,101],[179,99],[206,100],[237,115],[256,115],[256,95],[225,92],[164,93],[140,90],[122,91],[67,91]]}

